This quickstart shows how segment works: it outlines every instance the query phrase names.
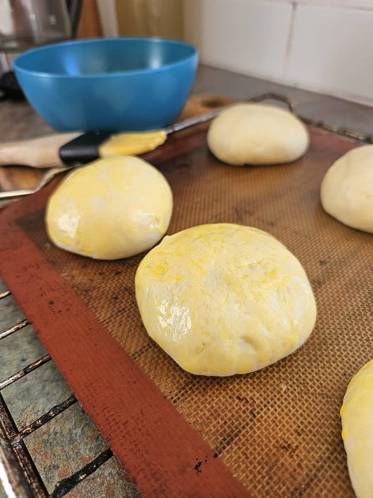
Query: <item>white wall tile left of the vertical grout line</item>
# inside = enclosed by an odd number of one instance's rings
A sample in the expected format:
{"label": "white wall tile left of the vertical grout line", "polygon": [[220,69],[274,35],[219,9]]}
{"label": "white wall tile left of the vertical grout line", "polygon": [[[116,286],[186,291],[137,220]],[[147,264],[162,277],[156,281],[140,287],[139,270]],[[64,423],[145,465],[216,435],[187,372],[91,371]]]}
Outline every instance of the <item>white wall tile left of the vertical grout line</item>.
{"label": "white wall tile left of the vertical grout line", "polygon": [[280,78],[291,4],[248,0],[186,0],[186,39],[211,65]]}

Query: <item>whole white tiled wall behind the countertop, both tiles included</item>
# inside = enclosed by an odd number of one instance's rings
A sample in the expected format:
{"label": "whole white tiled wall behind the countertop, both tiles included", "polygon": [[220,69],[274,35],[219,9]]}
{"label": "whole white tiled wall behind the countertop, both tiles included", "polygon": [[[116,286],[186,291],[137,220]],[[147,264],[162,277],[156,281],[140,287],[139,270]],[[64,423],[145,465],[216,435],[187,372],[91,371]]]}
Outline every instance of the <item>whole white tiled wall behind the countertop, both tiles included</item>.
{"label": "whole white tiled wall behind the countertop, both tiles included", "polygon": [[201,62],[373,105],[373,0],[185,0],[184,13]]}

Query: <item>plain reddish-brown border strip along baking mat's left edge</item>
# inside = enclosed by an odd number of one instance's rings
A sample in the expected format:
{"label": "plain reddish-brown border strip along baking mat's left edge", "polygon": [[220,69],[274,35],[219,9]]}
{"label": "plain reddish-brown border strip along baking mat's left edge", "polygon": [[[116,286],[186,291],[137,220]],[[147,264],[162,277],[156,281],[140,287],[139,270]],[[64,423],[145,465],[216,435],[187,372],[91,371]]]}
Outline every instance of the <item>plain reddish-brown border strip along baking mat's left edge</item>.
{"label": "plain reddish-brown border strip along baking mat's left edge", "polygon": [[1,276],[83,408],[144,497],[251,497],[16,226],[52,188],[1,213]]}

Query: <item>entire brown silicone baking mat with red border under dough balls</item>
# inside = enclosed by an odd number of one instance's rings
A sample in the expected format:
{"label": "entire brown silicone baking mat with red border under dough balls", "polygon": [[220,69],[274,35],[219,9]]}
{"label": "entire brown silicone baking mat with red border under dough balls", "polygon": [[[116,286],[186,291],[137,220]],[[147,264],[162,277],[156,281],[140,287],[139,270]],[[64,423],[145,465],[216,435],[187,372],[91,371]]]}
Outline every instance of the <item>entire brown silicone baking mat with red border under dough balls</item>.
{"label": "entire brown silicone baking mat with red border under dough balls", "polygon": [[232,167],[205,131],[147,155],[167,177],[168,233],[233,222],[270,232],[304,266],[318,306],[305,345],[256,373],[184,372],[148,337],[134,275],[144,254],[95,261],[55,248],[56,183],[0,214],[1,276],[144,497],[353,497],[339,408],[373,357],[373,236],[320,205],[320,182],[356,146],[310,129],[296,162]]}

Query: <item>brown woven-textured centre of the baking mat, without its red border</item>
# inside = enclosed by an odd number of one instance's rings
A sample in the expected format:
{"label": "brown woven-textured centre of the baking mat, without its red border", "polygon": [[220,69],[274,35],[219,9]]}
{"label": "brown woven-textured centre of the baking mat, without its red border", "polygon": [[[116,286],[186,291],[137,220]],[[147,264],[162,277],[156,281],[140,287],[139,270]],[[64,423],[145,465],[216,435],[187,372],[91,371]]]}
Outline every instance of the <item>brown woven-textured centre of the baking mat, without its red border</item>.
{"label": "brown woven-textured centre of the baking mat, without its red border", "polygon": [[373,236],[328,216],[319,188],[332,162],[355,144],[312,130],[310,150],[295,163],[241,168],[217,161],[204,136],[181,139],[181,155],[154,158],[174,192],[169,234],[239,223],[270,232],[299,258],[317,300],[316,327],[275,365],[225,378],[184,372],[142,326],[134,275],[143,254],[94,261],[53,247],[42,212],[19,223],[255,497],[352,498],[339,408],[349,379],[373,357]]}

